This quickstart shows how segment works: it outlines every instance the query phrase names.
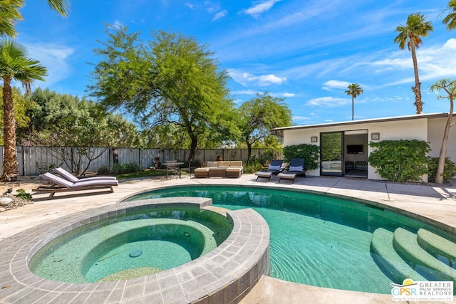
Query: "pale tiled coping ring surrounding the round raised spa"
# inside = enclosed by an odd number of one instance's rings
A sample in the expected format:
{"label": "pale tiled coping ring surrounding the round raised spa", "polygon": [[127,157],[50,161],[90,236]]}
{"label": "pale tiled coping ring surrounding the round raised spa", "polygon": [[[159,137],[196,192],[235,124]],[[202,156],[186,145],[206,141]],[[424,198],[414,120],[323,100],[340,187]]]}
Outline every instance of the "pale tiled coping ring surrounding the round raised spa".
{"label": "pale tiled coping ring surrounding the round raised spa", "polygon": [[0,302],[7,303],[237,303],[269,273],[269,227],[252,209],[227,211],[234,228],[220,246],[177,268],[126,281],[61,283],[28,269],[36,251],[78,226],[141,206],[200,206],[211,199],[172,197],[81,211],[0,241]]}

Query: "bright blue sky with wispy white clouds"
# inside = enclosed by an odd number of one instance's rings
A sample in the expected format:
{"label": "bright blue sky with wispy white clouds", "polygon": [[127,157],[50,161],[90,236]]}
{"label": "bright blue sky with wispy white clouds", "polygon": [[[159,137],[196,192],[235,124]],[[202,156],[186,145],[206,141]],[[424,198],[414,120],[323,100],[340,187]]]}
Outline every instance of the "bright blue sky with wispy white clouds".
{"label": "bright blue sky with wispy white clouds", "polygon": [[[229,72],[237,104],[255,93],[285,98],[297,125],[351,120],[351,97],[359,83],[355,120],[415,114],[410,52],[393,43],[395,28],[421,12],[434,31],[418,49],[424,112],[447,112],[429,86],[456,78],[456,31],[442,25],[447,0],[74,0],[62,18],[46,1],[26,1],[16,37],[48,68],[36,86],[87,95],[93,53],[106,41],[105,23],[141,31],[182,33],[207,43]],[[445,15],[444,15],[445,16]]]}

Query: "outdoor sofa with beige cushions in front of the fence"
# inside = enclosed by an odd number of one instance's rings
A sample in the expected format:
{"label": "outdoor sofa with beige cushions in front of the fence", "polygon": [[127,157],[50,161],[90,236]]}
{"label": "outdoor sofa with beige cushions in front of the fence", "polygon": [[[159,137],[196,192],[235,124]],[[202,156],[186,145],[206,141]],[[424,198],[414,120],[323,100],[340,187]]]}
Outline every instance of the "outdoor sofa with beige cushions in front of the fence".
{"label": "outdoor sofa with beige cushions in front of the fence", "polygon": [[241,160],[207,162],[206,167],[195,169],[196,178],[207,177],[241,177],[244,167]]}

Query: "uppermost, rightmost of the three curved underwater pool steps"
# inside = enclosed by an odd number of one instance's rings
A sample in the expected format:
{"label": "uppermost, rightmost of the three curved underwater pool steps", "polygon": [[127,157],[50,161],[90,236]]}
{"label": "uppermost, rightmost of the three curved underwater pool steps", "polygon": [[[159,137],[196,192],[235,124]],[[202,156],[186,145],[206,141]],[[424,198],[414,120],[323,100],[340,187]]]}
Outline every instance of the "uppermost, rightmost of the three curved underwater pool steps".
{"label": "uppermost, rightmost of the three curved underwater pool steps", "polygon": [[423,228],[418,229],[417,240],[418,244],[424,248],[425,251],[445,256],[452,261],[456,260],[456,243]]}

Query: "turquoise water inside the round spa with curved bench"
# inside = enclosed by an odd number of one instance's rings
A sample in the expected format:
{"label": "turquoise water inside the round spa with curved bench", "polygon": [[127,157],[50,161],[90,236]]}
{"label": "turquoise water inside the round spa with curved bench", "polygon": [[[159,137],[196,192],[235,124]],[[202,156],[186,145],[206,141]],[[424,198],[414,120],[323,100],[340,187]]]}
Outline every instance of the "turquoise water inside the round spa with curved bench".
{"label": "turquoise water inside the round spa with curved bench", "polygon": [[225,216],[197,208],[129,211],[69,231],[29,263],[53,281],[119,281],[174,268],[199,258],[232,231]]}

